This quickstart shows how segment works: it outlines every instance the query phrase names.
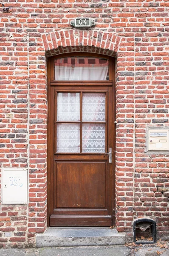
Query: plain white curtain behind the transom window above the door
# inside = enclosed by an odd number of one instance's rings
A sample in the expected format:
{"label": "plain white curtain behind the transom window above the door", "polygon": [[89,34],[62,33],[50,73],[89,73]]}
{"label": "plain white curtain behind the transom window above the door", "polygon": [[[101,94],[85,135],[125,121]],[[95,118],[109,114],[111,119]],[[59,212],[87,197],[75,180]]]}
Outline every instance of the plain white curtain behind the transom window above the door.
{"label": "plain white curtain behind the transom window above the door", "polygon": [[55,80],[106,80],[108,66],[102,67],[66,67],[55,66]]}

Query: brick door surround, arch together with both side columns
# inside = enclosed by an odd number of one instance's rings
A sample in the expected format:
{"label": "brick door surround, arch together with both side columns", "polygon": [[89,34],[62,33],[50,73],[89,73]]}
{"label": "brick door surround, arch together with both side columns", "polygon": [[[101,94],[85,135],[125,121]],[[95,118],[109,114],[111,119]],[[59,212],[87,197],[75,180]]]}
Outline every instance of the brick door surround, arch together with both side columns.
{"label": "brick door surround, arch together with both side columns", "polygon": [[[29,228],[28,236],[29,242],[34,243],[35,233],[44,232],[46,229],[47,221],[47,57],[67,52],[94,52],[103,55],[110,55],[116,57],[116,228],[118,231],[127,231],[131,236],[132,228],[131,222],[133,219],[132,200],[133,200],[133,187],[127,187],[126,183],[129,179],[124,177],[124,171],[130,175],[130,181],[132,183],[132,165],[133,159],[130,155],[133,151],[132,143],[129,148],[124,149],[124,132],[128,132],[128,135],[133,140],[133,122],[132,116],[126,111],[129,99],[126,98],[126,92],[128,87],[133,84],[132,74],[133,66],[128,63],[125,67],[124,60],[127,60],[127,54],[124,51],[125,38],[121,38],[119,35],[113,32],[104,32],[98,30],[60,30],[50,32],[42,35],[42,45],[38,52],[38,71],[34,70],[31,65],[31,59],[29,63],[30,70],[30,126],[29,134],[30,139],[30,177],[35,179],[29,180],[30,182],[30,197],[29,201],[32,202],[29,210]],[[34,54],[30,47],[30,52],[34,58]],[[46,56],[46,57],[45,57]],[[37,63],[36,63],[37,64]],[[36,75],[37,74],[37,75]],[[33,79],[31,79],[31,77]],[[35,79],[37,77],[37,79]],[[35,88],[37,90],[35,90]],[[128,96],[127,96],[128,97]],[[133,99],[132,99],[133,101]],[[131,99],[130,99],[131,102]],[[34,109],[36,107],[36,110]],[[130,112],[130,111],[129,111]],[[36,115],[34,114],[36,113]],[[122,114],[120,114],[122,113]],[[128,116],[127,116],[128,115]],[[130,117],[130,118],[129,118]],[[37,134],[37,137],[36,135]],[[32,138],[37,138],[37,141],[32,141]],[[39,138],[43,140],[39,140]],[[128,138],[127,138],[128,141]],[[36,144],[37,143],[37,144]],[[37,152],[36,159],[35,154]],[[125,152],[125,153],[124,153]],[[127,155],[129,153],[129,156]],[[126,154],[126,157],[124,157]],[[121,157],[123,157],[121,159]],[[124,167],[124,161],[129,158],[130,164]],[[122,161],[122,163],[121,163]],[[39,182],[39,184],[37,184]],[[35,187],[35,188],[34,188]],[[37,193],[37,197],[34,197],[32,192]],[[124,203],[124,194],[130,193],[127,197],[127,201]],[[126,208],[124,207],[126,205]],[[128,210],[128,206],[130,209]],[[124,209],[127,214],[124,216]],[[35,218],[36,217],[36,218]],[[125,221],[124,221],[125,219]],[[36,224],[35,224],[36,221]]]}

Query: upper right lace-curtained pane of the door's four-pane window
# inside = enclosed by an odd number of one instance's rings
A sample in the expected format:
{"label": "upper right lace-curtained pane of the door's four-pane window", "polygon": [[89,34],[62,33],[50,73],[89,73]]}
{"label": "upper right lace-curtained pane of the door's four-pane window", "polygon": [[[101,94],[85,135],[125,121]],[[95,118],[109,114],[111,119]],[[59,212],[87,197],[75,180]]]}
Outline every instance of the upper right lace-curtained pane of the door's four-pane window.
{"label": "upper right lace-curtained pane of the door's four-pane window", "polygon": [[82,121],[105,121],[105,93],[83,93],[82,102]]}

